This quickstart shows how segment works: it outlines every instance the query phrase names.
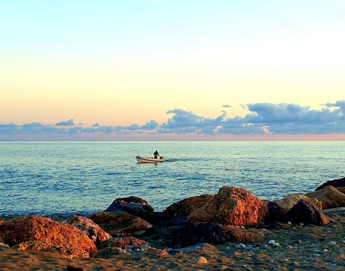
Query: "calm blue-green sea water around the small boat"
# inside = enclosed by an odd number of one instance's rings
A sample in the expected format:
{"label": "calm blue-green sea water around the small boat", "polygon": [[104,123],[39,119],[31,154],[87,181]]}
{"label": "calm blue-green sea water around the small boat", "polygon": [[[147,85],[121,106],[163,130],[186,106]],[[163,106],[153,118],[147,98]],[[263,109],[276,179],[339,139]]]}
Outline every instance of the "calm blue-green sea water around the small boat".
{"label": "calm blue-green sea water around the small boat", "polygon": [[[167,162],[138,164],[158,150]],[[90,214],[117,197],[156,211],[223,186],[262,199],[344,177],[345,142],[0,142],[0,214]]]}

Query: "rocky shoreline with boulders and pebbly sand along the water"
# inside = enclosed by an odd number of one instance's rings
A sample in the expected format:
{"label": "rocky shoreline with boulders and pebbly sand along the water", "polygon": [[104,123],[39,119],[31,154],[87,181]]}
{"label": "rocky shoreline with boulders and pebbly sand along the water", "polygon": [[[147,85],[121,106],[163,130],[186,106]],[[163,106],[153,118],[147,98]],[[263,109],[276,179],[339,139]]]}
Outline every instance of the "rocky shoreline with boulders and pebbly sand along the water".
{"label": "rocky shoreline with boulders and pebbly sand along the water", "polygon": [[0,219],[0,270],[344,270],[345,178],[261,200],[221,187],[155,212],[115,199],[103,212]]}

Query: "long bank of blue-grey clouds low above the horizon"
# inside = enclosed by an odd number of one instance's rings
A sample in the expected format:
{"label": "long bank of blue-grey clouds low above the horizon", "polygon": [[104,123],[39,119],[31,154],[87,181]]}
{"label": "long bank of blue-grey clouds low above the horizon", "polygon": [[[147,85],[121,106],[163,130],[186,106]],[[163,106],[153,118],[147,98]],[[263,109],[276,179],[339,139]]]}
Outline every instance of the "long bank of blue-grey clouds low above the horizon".
{"label": "long bank of blue-grey clouds low above the horizon", "polygon": [[[174,109],[167,111],[170,116],[159,124],[151,120],[143,125],[133,123],[129,126],[106,126],[95,123],[92,127],[81,127],[73,119],[55,125],[39,122],[16,125],[0,124],[0,134],[344,134],[345,100],[324,103],[321,110],[297,104],[255,103],[240,105],[249,113],[245,116],[227,117],[221,111],[217,118],[199,116],[192,111]],[[230,108],[223,105],[223,108]],[[81,125],[79,123],[78,125]],[[66,127],[65,127],[66,126]],[[70,127],[74,126],[74,127]]]}

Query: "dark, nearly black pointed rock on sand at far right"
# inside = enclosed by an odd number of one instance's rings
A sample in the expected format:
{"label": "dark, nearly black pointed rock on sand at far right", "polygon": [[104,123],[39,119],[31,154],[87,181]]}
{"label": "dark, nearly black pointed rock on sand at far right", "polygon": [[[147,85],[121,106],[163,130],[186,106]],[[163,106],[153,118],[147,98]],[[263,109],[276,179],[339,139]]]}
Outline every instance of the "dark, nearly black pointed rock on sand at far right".
{"label": "dark, nearly black pointed rock on sand at far right", "polygon": [[324,226],[329,223],[328,218],[314,204],[301,199],[294,207],[278,217],[278,221],[286,223],[292,221],[294,224],[306,223],[317,226]]}

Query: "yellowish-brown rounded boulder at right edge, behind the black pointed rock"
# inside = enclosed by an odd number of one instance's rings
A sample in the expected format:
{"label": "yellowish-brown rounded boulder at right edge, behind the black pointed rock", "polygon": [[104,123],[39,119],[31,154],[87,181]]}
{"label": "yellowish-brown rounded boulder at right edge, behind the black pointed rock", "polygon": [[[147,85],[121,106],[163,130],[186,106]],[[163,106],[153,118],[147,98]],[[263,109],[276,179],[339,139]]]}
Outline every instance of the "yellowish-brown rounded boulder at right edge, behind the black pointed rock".
{"label": "yellowish-brown rounded boulder at right edge, behind the black pointed rock", "polygon": [[321,202],[323,209],[345,207],[345,194],[339,192],[333,186],[325,186],[322,189],[307,193],[305,195]]}

